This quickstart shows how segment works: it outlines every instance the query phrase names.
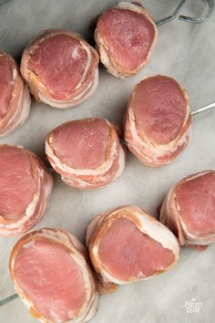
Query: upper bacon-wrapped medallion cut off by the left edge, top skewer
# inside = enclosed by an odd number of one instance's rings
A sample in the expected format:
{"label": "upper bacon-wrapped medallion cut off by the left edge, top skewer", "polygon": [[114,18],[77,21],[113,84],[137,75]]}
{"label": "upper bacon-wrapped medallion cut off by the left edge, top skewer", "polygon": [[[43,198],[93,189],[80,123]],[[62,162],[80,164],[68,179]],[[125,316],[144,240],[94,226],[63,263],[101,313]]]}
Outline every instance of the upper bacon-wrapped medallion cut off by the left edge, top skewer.
{"label": "upper bacon-wrapped medallion cut off by the left edge, top skewer", "polygon": [[14,58],[0,51],[0,137],[26,121],[30,105],[28,87]]}

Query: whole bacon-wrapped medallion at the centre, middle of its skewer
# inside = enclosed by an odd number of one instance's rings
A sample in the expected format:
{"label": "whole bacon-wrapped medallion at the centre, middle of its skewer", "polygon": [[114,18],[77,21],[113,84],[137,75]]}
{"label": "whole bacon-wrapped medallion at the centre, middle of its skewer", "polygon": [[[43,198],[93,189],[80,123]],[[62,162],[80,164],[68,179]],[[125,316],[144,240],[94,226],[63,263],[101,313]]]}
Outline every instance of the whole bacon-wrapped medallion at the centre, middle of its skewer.
{"label": "whole bacon-wrapped medallion at the centre, middle of its skewer", "polygon": [[98,118],[68,121],[49,132],[46,155],[62,180],[80,190],[114,181],[126,159],[117,127]]}

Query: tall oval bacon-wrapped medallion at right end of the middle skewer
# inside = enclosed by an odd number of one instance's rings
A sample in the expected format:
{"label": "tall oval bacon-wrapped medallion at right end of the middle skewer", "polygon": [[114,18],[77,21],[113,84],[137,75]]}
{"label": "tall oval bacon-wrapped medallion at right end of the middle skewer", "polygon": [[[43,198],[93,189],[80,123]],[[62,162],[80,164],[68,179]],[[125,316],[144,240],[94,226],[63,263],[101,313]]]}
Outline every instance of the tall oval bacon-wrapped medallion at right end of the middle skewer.
{"label": "tall oval bacon-wrapped medallion at right end of the middle skewer", "polygon": [[174,78],[144,78],[132,92],[125,114],[125,140],[140,162],[172,162],[189,142],[189,96]]}

